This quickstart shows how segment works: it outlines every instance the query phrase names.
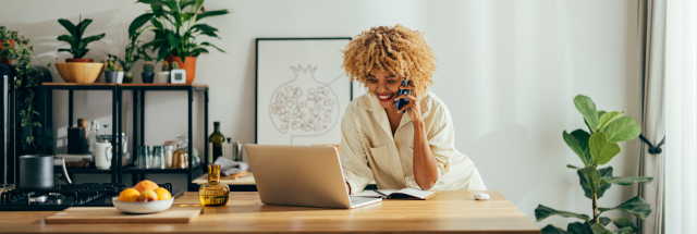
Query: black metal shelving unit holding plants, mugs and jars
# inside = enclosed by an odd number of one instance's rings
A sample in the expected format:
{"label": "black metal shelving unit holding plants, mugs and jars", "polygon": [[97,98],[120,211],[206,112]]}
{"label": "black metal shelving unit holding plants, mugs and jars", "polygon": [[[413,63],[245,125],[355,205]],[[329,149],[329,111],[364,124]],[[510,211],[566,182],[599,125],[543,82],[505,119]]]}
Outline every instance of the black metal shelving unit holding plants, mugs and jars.
{"label": "black metal shelving unit holding plants, mugs and jars", "polygon": [[[112,127],[111,135],[117,136],[117,133],[122,133],[122,113],[123,113],[123,91],[131,90],[133,94],[133,155],[134,161],[138,157],[135,155],[137,151],[137,147],[140,145],[145,145],[145,131],[143,130],[143,125],[145,123],[145,94],[146,91],[186,91],[188,95],[187,103],[188,103],[188,164],[193,163],[193,102],[194,102],[194,91],[204,91],[204,136],[208,135],[208,86],[201,84],[112,84],[112,83],[42,83],[41,91],[44,91],[45,96],[48,97],[49,91],[62,89],[69,91],[69,126],[73,125],[73,91],[74,90],[111,90],[112,93]],[[46,100],[42,100],[46,101]],[[48,110],[44,110],[45,113]],[[138,115],[139,113],[139,115]],[[44,115],[46,116],[46,115]],[[42,118],[42,123],[47,123],[48,120]],[[46,134],[44,134],[46,140]],[[115,156],[112,160],[111,169],[101,170],[101,169],[69,169],[70,174],[111,174],[112,183],[123,183],[123,174],[132,174],[134,182],[137,182],[138,178],[143,178],[145,174],[154,174],[154,173],[185,173],[187,175],[187,187],[188,190],[197,190],[198,185],[193,184],[193,172],[194,170],[201,169],[200,165],[197,167],[188,167],[187,169],[135,169],[135,168],[123,168],[121,165],[121,137],[112,137],[112,152]],[[44,144],[46,147],[46,144]],[[44,148],[46,151],[46,148]],[[207,164],[208,158],[205,157],[208,155],[208,147],[205,147],[204,155],[201,157],[201,163]]]}

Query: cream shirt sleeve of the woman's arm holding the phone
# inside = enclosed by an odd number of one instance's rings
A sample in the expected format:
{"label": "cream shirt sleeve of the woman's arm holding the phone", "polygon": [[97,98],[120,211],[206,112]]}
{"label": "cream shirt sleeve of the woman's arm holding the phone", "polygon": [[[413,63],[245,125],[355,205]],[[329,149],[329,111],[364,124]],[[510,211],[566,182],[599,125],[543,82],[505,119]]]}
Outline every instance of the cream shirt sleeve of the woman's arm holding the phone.
{"label": "cream shirt sleeve of the woman's arm holding the phone", "polygon": [[450,157],[455,153],[455,134],[447,107],[438,107],[435,114],[431,131],[428,133],[428,144],[436,157],[440,180],[450,171]]}

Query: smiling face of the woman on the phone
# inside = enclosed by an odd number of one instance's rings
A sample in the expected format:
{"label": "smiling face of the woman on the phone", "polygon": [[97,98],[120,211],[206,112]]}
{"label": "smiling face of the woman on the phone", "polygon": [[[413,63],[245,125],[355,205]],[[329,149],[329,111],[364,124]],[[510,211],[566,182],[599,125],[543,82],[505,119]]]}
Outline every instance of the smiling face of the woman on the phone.
{"label": "smiling face of the woman on the phone", "polygon": [[396,109],[394,98],[400,93],[402,78],[380,70],[372,70],[368,75],[368,91],[380,100],[383,108]]}

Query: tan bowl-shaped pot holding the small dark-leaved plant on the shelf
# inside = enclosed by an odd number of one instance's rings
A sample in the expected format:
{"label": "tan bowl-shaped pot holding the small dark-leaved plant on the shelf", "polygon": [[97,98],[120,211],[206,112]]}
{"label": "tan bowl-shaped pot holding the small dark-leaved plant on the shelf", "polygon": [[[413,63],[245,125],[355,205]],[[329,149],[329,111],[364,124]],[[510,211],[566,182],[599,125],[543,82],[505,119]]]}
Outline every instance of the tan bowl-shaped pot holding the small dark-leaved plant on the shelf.
{"label": "tan bowl-shaped pot holding the small dark-leaved plant on the shelf", "polygon": [[66,83],[95,83],[103,63],[87,63],[87,62],[59,62],[56,63],[56,69],[61,74]]}

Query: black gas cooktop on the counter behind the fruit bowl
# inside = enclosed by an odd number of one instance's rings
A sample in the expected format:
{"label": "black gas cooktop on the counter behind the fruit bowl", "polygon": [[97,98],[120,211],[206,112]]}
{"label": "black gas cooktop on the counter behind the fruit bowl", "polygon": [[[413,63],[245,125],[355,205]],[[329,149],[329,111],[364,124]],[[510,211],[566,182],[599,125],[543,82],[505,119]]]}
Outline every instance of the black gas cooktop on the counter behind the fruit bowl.
{"label": "black gas cooktop on the counter behind the fruit bowl", "polygon": [[[172,193],[172,184],[158,184],[167,188],[172,198],[184,192]],[[0,211],[61,211],[69,207],[113,207],[112,197],[125,189],[124,184],[84,183],[57,185],[48,190],[13,189],[0,195]]]}

